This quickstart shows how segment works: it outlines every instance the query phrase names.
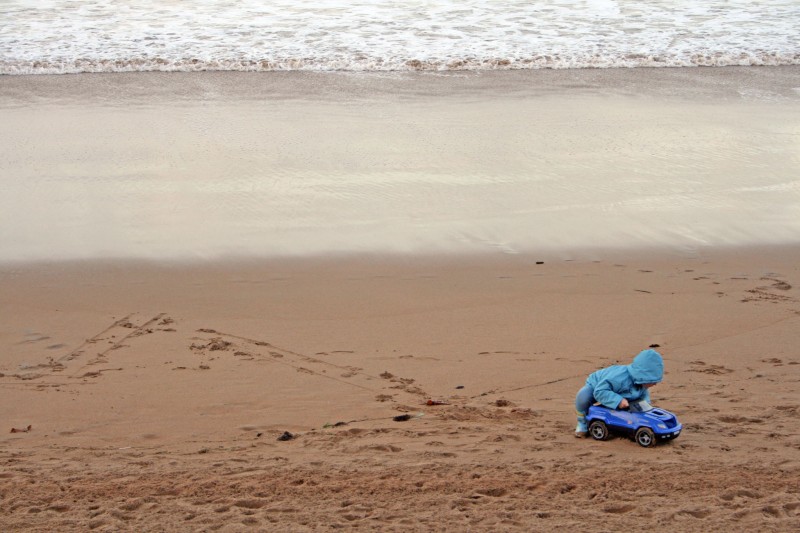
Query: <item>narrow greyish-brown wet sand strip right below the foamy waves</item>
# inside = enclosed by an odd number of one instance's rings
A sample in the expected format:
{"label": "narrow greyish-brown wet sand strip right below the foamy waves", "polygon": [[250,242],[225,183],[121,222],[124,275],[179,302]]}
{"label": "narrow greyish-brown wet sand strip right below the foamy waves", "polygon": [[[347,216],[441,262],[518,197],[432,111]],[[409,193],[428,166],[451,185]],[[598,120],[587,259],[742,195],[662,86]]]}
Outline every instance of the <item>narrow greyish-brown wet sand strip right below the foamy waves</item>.
{"label": "narrow greyish-brown wet sand strip right below the foamy waves", "polygon": [[[203,79],[209,80],[209,82]],[[236,79],[231,83],[225,79]],[[164,83],[179,81],[180,84]],[[178,101],[192,99],[259,99],[265,94],[286,100],[346,97],[375,99],[439,96],[455,90],[477,96],[533,97],[592,93],[646,95],[676,99],[757,99],[759,92],[782,100],[800,99],[800,65],[726,67],[636,67],[595,69],[479,70],[479,71],[201,71],[97,72],[81,74],[0,75],[3,98],[12,105],[44,103],[47,98],[70,102],[110,97],[147,103],[154,95]],[[113,81],[115,83],[106,83]],[[533,81],[534,83],[531,83]],[[298,91],[298,83],[303,83]],[[445,84],[452,84],[449,87]],[[742,89],[745,93],[742,93]],[[109,94],[109,90],[114,92]],[[78,91],[76,93],[76,91]],[[762,94],[762,97],[764,94]],[[39,100],[36,100],[36,99]]]}

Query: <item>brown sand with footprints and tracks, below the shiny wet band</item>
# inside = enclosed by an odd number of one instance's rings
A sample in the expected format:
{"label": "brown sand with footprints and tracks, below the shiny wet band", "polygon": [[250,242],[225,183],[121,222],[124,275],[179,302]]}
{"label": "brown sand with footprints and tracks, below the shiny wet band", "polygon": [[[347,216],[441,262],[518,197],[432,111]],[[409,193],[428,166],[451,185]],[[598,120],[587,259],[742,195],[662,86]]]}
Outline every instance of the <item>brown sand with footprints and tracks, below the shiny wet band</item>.
{"label": "brown sand with footprints and tracks, below the shiny wet band", "polygon": [[[798,265],[795,246],[6,266],[0,524],[796,531]],[[650,344],[684,433],[575,439],[586,375]]]}

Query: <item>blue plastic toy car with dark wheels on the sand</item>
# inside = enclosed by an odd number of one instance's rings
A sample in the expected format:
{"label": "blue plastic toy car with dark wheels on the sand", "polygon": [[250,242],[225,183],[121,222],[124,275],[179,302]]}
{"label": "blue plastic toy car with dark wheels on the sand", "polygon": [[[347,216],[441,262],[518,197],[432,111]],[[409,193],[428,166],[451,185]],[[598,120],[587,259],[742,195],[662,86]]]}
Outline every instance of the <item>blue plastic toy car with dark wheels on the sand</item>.
{"label": "blue plastic toy car with dark wheels on the sand", "polygon": [[595,440],[606,440],[609,431],[613,431],[632,436],[645,448],[655,446],[658,441],[672,440],[683,429],[674,414],[653,407],[644,400],[631,402],[627,410],[593,405],[589,407],[586,422],[589,424],[589,435]]}

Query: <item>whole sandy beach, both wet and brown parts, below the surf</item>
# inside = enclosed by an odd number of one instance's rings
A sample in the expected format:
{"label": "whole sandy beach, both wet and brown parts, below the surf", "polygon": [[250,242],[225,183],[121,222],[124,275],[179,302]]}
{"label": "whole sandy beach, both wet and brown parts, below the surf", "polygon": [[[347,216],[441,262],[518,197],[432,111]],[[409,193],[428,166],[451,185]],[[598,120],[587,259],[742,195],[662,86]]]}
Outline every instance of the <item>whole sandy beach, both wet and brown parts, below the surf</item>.
{"label": "whole sandy beach, both wet and brown parts, below the surf", "polygon": [[[796,531],[797,69],[687,70],[506,73],[498,100],[474,77],[275,82],[274,107],[224,75],[170,78],[177,95],[164,75],[0,79],[14,125],[0,133],[0,529]],[[204,105],[233,117],[218,135],[201,135]],[[596,122],[576,126],[575,106]],[[392,128],[360,108],[416,114]],[[546,132],[517,122],[534,109]],[[454,137],[421,133],[436,123]],[[552,141],[547,158],[529,135]],[[570,153],[573,136],[597,138]],[[214,185],[227,161],[245,177]],[[537,203],[512,180],[620,164],[741,181]],[[246,177],[347,168],[386,177],[375,205],[352,200],[354,181],[306,210]],[[442,187],[392,181],[401,168]],[[442,177],[495,168],[483,197]],[[752,189],[753,173],[773,186]],[[257,209],[270,194],[304,218]],[[654,404],[680,437],[576,439],[586,376],[651,345],[666,367]]]}

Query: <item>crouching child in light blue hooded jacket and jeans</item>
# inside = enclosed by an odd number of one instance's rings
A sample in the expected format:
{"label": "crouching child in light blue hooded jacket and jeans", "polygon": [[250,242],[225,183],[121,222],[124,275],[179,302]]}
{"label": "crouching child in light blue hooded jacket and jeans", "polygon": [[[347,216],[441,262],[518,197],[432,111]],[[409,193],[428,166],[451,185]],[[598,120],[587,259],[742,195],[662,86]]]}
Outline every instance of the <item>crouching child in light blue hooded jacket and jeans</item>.
{"label": "crouching child in light blue hooded jacket and jeans", "polygon": [[628,402],[650,401],[650,387],[664,377],[664,360],[655,350],[644,350],[629,365],[613,365],[593,372],[575,396],[578,415],[576,437],[585,437],[589,406],[600,403],[610,409],[626,409]]}

